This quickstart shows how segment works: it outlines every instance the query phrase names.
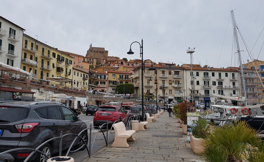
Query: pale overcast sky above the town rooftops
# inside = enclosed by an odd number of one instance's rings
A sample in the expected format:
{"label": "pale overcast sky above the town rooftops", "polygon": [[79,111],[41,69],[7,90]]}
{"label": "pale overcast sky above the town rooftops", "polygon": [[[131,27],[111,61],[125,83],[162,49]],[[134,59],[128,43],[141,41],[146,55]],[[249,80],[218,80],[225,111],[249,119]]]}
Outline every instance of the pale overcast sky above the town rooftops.
{"label": "pale overcast sky above the town rooftops", "polygon": [[[59,50],[86,55],[90,44],[109,56],[211,67],[239,66],[231,10],[254,59],[264,61],[263,0],[1,0],[0,15]],[[257,40],[258,39],[258,40]],[[255,46],[254,46],[255,44]],[[264,48],[264,47],[263,47]],[[244,50],[242,61],[250,59]]]}

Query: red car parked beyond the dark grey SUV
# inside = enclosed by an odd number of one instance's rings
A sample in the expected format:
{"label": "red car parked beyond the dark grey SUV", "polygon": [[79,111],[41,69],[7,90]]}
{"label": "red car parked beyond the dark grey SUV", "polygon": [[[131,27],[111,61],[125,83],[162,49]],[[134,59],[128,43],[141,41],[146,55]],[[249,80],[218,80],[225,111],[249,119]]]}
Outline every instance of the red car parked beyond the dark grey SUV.
{"label": "red car parked beyond the dark grey SUV", "polygon": [[94,126],[99,127],[107,122],[113,124],[116,120],[123,120],[124,123],[128,121],[127,111],[122,106],[119,105],[104,105],[101,106],[96,113],[94,113]]}

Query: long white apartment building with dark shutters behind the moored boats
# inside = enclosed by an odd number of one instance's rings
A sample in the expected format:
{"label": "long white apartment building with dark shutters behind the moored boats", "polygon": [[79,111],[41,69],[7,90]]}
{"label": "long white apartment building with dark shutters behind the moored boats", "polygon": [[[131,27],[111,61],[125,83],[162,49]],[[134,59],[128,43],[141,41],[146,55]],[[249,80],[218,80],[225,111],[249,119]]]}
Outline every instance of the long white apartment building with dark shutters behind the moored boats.
{"label": "long white apartment building with dark shutters behind the moored boats", "polygon": [[[209,107],[210,104],[221,101],[222,98],[211,96],[214,93],[236,97],[241,94],[238,70],[195,65],[192,67],[191,73],[190,64],[183,64],[182,67],[184,68],[185,99],[192,101],[195,98],[198,107]],[[192,85],[194,85],[193,91]],[[192,95],[194,96],[192,97]],[[238,105],[241,103],[232,101],[232,104]]]}

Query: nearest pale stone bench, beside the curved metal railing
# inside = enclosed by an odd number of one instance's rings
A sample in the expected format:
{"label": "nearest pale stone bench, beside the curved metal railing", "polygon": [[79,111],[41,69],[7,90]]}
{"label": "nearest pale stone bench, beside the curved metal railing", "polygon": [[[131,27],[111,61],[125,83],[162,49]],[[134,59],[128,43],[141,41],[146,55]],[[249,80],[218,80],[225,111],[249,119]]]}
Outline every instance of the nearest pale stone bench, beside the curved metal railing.
{"label": "nearest pale stone bench, beside the curved metal railing", "polygon": [[112,147],[129,147],[127,141],[135,141],[133,134],[135,130],[126,130],[126,126],[123,122],[113,124],[115,130],[115,140]]}

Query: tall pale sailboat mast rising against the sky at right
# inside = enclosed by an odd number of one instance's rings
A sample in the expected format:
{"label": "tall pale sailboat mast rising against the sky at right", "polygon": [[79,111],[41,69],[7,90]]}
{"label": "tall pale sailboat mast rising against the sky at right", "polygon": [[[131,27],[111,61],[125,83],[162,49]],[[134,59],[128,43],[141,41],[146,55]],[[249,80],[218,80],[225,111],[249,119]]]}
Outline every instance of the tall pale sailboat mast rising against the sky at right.
{"label": "tall pale sailboat mast rising against the sky at right", "polygon": [[243,90],[244,90],[245,106],[248,106],[245,79],[244,79],[244,71],[243,71],[243,66],[242,66],[242,61],[241,61],[239,42],[238,42],[237,31],[236,31],[236,21],[235,21],[235,16],[234,16],[234,11],[233,10],[231,11],[231,15],[232,15],[232,19],[233,19],[233,27],[234,27],[234,30],[235,30],[235,37],[236,37],[236,46],[237,46],[238,58],[239,58],[239,62],[240,62],[240,71],[241,71],[242,85],[243,85]]}

